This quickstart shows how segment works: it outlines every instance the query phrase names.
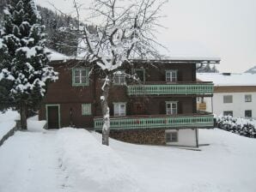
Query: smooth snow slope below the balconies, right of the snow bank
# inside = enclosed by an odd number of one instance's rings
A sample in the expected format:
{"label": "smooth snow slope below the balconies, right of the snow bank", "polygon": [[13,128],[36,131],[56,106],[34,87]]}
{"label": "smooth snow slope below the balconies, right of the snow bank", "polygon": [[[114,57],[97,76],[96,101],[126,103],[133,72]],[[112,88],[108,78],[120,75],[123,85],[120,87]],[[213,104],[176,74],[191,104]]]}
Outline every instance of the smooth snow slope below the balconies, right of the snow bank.
{"label": "smooth snow slope below the balconies, right of the snow bank", "polygon": [[200,129],[199,144],[209,146],[192,151],[110,142],[116,153],[136,167],[137,182],[147,192],[255,191],[255,139]]}

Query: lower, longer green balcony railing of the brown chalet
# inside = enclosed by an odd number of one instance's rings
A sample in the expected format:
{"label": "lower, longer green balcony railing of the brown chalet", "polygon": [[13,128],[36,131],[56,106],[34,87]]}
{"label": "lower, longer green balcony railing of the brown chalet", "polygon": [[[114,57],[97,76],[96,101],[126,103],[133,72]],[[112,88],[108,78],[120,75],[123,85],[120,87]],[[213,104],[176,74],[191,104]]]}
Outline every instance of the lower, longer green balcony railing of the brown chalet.
{"label": "lower, longer green balcony railing of the brown chalet", "polygon": [[[94,118],[94,129],[102,129],[102,118]],[[113,117],[110,129],[213,128],[213,115]]]}

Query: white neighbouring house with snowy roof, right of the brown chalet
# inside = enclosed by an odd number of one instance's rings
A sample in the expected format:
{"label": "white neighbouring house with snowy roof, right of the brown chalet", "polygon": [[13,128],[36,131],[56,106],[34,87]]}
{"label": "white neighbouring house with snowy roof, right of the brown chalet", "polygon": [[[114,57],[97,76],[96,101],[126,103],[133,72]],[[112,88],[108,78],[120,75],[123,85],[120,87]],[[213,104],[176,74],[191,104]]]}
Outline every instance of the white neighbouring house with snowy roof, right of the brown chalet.
{"label": "white neighbouring house with snowy roof, right of the brown chalet", "polygon": [[198,74],[199,81],[213,81],[212,98],[198,98],[198,110],[217,116],[256,118],[256,75],[232,73]]}

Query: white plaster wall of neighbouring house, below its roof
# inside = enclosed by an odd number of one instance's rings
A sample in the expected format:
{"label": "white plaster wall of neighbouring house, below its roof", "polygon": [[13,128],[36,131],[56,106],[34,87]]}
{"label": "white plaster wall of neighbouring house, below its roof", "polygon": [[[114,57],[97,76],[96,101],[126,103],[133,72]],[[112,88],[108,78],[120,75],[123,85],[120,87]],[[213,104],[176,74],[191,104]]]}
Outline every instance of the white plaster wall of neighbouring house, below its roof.
{"label": "white plaster wall of neighbouring house, below its roof", "polygon": [[[245,95],[252,94],[252,102],[245,102]],[[224,104],[223,96],[233,95],[233,103]],[[211,99],[204,98],[206,111],[211,111]],[[221,115],[223,111],[233,111],[234,117],[245,117],[246,110],[252,110],[252,117],[256,118],[256,93],[214,93],[213,113]]]}

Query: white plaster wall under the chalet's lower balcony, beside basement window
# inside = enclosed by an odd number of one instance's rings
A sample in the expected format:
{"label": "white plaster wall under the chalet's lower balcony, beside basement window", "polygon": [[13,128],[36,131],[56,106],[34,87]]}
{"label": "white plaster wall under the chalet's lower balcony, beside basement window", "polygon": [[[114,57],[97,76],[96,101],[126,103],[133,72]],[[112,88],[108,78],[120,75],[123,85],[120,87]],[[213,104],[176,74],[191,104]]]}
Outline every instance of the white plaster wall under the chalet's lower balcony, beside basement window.
{"label": "white plaster wall under the chalet's lower balcony, beside basement window", "polygon": [[166,130],[166,132],[178,131],[178,142],[168,142],[170,146],[197,147],[196,129]]}

